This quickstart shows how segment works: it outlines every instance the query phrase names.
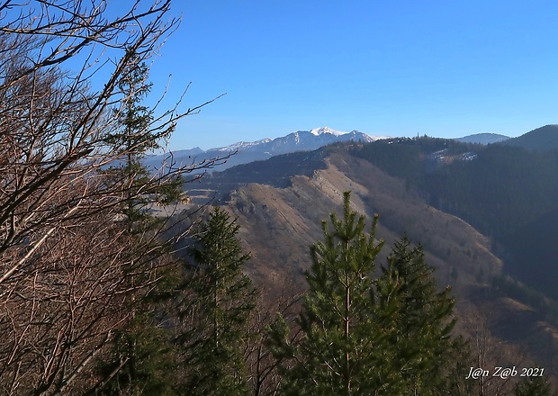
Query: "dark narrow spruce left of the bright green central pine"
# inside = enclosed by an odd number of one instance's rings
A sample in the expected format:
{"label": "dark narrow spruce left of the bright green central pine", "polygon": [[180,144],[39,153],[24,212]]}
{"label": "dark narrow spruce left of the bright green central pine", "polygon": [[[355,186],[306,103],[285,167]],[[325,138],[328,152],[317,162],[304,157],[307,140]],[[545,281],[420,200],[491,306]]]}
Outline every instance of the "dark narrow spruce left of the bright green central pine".
{"label": "dark narrow spruce left of the bright green central pine", "polygon": [[183,329],[176,338],[184,365],[184,394],[245,395],[248,392],[243,342],[255,307],[256,290],[242,269],[238,224],[215,207],[190,249],[186,271],[191,291],[180,311]]}

